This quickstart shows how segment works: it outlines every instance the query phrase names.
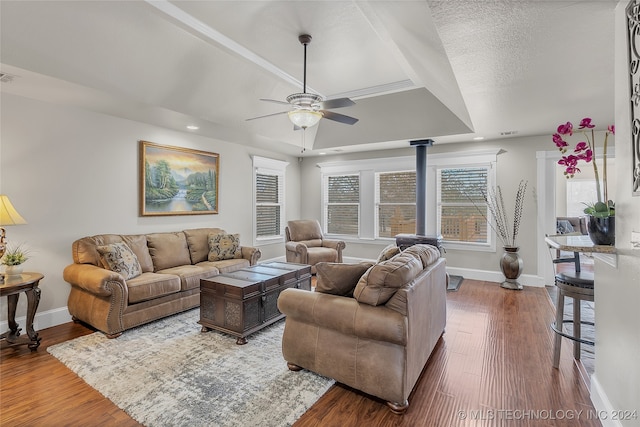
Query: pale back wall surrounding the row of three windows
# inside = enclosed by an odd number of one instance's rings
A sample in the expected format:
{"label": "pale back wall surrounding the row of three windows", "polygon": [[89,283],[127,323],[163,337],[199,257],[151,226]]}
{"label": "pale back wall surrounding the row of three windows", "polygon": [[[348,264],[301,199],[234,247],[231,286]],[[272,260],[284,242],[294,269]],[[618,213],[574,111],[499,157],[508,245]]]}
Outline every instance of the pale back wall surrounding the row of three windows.
{"label": "pale back wall surrounding the row of three windows", "polygon": [[[407,146],[409,144],[407,143]],[[520,255],[524,260],[524,272],[519,281],[525,285],[541,286],[542,279],[537,276],[538,255],[536,248],[536,236],[538,225],[536,220],[536,151],[553,149],[551,133],[548,137],[529,138],[505,138],[495,141],[482,141],[467,144],[438,144],[437,138],[433,147],[427,149],[427,164],[429,154],[456,153],[477,151],[483,149],[500,149],[497,159],[497,184],[502,188],[505,203],[513,206],[518,184],[521,179],[528,180],[527,193],[524,203],[524,211],[521,227],[518,234]],[[386,150],[377,152],[352,153],[334,156],[322,156],[305,158],[302,162],[302,179],[305,182],[305,191],[301,195],[301,214],[305,218],[322,218],[321,205],[321,171],[316,165],[319,162],[349,161],[358,159],[370,159],[380,157],[415,156],[415,149],[408,146],[406,149]],[[513,218],[513,208],[510,217]],[[427,208],[427,215],[430,210]],[[427,233],[429,234],[429,233]],[[382,248],[389,242],[356,243],[347,242],[345,256],[376,258]],[[446,245],[445,245],[446,246]],[[502,247],[498,243],[495,252],[462,251],[447,249],[447,268],[454,274],[462,274],[464,277],[481,280],[504,280],[500,272],[499,260],[502,256]]]}

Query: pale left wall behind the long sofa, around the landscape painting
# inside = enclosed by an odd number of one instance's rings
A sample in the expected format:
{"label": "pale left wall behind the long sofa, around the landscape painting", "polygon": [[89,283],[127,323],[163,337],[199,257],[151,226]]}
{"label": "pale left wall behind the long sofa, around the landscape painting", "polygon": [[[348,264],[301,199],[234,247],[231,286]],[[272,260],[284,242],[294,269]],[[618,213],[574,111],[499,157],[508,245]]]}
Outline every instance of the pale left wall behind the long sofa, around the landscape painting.
{"label": "pale left wall behind the long sofa, around the landscape painting", "polygon": [[[220,227],[240,233],[241,244],[251,246],[254,154],[289,162],[286,215],[299,216],[296,158],[7,94],[0,113],[0,192],[28,222],[7,227],[7,240],[24,242],[31,249],[25,271],[45,276],[36,329],[69,321],[62,271],[80,237]],[[219,213],[140,217],[139,140],[219,153]],[[284,256],[283,243],[260,249],[263,260]],[[6,324],[5,300],[0,319]],[[22,296],[18,317],[25,307]]]}

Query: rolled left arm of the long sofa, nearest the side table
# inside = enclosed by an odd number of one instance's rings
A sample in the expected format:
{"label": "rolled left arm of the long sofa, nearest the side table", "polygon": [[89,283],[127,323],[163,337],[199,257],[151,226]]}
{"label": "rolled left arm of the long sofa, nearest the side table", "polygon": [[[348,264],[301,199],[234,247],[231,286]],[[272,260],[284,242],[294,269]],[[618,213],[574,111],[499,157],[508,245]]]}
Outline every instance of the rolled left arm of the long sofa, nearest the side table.
{"label": "rolled left arm of the long sofa, nearest the side table", "polygon": [[110,296],[113,292],[111,288],[118,286],[122,289],[124,300],[127,300],[127,285],[119,273],[92,264],[71,264],[65,267],[62,277],[72,286],[101,297]]}

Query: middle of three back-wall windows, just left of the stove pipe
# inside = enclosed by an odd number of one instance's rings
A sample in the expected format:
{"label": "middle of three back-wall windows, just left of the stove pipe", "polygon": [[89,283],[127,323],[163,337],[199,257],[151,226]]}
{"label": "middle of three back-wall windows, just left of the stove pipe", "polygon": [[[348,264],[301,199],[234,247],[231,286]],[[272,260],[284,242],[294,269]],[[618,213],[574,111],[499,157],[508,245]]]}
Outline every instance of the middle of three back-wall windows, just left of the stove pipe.
{"label": "middle of three back-wall windows, just left of the stove pipe", "polygon": [[416,231],[416,172],[376,174],[377,237]]}

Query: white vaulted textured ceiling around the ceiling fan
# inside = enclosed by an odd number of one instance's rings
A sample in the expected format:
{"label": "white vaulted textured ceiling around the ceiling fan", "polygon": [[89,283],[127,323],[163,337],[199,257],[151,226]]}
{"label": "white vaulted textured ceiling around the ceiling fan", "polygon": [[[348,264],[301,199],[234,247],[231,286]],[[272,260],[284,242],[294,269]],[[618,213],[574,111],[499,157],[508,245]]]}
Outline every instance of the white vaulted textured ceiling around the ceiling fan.
{"label": "white vaulted textured ceiling around the ceiling fan", "polygon": [[[12,93],[300,155],[286,110],[349,96],[304,155],[613,121],[615,1],[1,1]],[[284,107],[284,108],[283,108]]]}

